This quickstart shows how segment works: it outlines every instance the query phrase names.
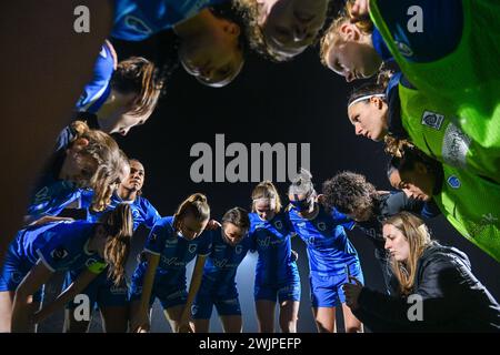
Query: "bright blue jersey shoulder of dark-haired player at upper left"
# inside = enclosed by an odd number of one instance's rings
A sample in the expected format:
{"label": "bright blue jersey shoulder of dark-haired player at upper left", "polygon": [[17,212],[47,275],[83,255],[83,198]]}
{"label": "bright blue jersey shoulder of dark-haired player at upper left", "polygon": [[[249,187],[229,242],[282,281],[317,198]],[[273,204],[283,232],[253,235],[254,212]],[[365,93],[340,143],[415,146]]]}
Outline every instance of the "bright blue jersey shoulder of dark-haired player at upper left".
{"label": "bright blue jersey shoulder of dark-haired player at upper left", "polygon": [[93,65],[92,80],[84,87],[83,93],[77,102],[77,111],[96,113],[108,100],[114,64],[114,50],[111,44],[106,42]]}

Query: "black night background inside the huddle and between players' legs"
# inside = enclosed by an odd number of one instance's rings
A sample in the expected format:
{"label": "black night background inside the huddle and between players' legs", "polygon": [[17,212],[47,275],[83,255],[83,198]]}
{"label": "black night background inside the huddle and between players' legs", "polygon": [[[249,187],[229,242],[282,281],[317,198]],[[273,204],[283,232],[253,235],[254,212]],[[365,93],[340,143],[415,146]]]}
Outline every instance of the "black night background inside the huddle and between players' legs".
{"label": "black night background inside the huddle and between players' legs", "polygon": [[[114,44],[121,60],[140,54],[161,61],[169,38],[162,34],[147,42]],[[196,158],[190,158],[191,146],[207,142],[214,153],[216,133],[226,134],[226,146],[241,142],[249,150],[250,143],[310,143],[311,172],[317,190],[321,189],[324,180],[342,170],[362,173],[378,189],[389,190],[382,145],[356,136],[347,119],[346,102],[351,89],[352,85],[321,65],[317,49],[309,49],[292,62],[281,64],[250,54],[241,74],[221,89],[203,87],[180,69],[168,80],[166,95],[147,124],[117,140],[130,158],[143,163],[147,171],[144,196],[161,215],[173,214],[178,204],[194,192],[207,194],[214,219],[220,219],[226,210],[236,205],[250,209],[250,193],[256,183],[197,184],[190,179],[190,166],[196,161]],[[288,184],[279,183],[277,186],[286,202]],[[437,240],[469,255],[474,274],[499,300],[499,264],[459,235],[442,216],[430,221],[429,225]],[[141,229],[134,240],[136,252],[141,248],[146,235],[147,231]],[[349,236],[359,252],[366,284],[382,291],[382,276],[371,242],[357,230],[349,232]],[[316,332],[309,302],[307,253],[300,240],[294,239],[292,244],[299,253],[302,280],[298,331]],[[256,258],[256,255],[249,255],[238,271],[243,332],[257,331],[253,304]],[[132,257],[129,275],[133,267]],[[53,287],[52,291],[56,290]],[[41,329],[60,332],[61,327],[59,314]],[[216,312],[211,329],[221,331]],[[97,313],[92,331],[100,332]],[[169,332],[158,303],[152,331]]]}

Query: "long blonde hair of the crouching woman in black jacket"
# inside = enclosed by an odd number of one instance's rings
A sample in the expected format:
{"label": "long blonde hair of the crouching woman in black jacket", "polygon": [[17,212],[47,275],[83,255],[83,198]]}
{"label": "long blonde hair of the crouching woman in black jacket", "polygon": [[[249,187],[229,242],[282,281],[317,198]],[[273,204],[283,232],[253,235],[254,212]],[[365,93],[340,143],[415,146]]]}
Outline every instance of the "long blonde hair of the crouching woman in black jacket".
{"label": "long blonde hair of the crouching woman in black jacket", "polygon": [[432,245],[429,230],[421,219],[409,212],[401,212],[390,216],[382,223],[390,224],[401,231],[410,245],[407,261],[398,262],[390,258],[393,275],[398,278],[401,295],[411,294],[417,276],[417,264],[423,252]]}

